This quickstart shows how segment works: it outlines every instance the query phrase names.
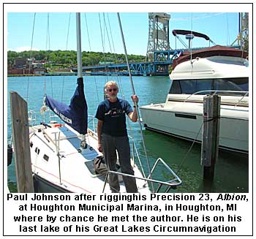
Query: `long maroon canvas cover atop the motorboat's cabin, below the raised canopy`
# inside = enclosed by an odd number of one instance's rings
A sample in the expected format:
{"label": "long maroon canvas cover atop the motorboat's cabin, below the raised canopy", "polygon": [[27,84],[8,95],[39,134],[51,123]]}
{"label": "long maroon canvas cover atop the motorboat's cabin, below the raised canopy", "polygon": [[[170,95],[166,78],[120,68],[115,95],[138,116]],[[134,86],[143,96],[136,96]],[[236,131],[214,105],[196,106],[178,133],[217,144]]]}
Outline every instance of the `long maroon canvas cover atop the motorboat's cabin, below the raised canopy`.
{"label": "long maroon canvas cover atop the motorboat's cabin, below the raised canopy", "polygon": [[179,56],[173,61],[173,69],[178,64],[181,64],[184,61],[189,61],[191,58],[192,59],[195,59],[197,57],[206,58],[210,56],[233,56],[233,57],[247,58],[248,53],[243,50],[238,50],[236,48],[228,48],[221,45],[214,45],[211,48],[203,48],[200,50],[192,50],[192,52],[184,51],[181,53],[181,56]]}

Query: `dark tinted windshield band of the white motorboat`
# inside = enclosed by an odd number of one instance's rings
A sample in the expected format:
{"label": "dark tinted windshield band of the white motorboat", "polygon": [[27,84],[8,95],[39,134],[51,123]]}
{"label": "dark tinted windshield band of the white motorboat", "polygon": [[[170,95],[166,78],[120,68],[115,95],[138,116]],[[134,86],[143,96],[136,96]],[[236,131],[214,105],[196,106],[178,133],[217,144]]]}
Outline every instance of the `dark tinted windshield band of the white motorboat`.
{"label": "dark tinted windshield band of the white motorboat", "polygon": [[217,94],[220,95],[244,96],[245,93],[239,91],[249,91],[249,78],[173,80],[169,94],[195,94],[196,92],[198,94],[209,94],[203,91],[218,91]]}

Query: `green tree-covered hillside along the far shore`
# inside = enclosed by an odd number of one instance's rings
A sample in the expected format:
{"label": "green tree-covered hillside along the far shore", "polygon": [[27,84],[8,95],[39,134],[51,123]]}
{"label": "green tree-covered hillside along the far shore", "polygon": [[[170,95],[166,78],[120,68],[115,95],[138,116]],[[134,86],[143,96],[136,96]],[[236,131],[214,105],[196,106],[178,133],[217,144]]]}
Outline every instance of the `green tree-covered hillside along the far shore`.
{"label": "green tree-covered hillside along the far shore", "polygon": [[[58,64],[67,64],[67,66],[75,65],[77,62],[77,56],[75,50],[31,50],[16,53],[9,50],[7,53],[8,62],[14,63],[15,58],[35,58],[36,60],[49,61],[51,67]],[[146,56],[129,55],[129,61],[140,62],[145,61]],[[125,62],[124,54],[116,53],[100,53],[83,51],[82,53],[83,66],[97,65],[100,62],[110,62],[113,64]]]}

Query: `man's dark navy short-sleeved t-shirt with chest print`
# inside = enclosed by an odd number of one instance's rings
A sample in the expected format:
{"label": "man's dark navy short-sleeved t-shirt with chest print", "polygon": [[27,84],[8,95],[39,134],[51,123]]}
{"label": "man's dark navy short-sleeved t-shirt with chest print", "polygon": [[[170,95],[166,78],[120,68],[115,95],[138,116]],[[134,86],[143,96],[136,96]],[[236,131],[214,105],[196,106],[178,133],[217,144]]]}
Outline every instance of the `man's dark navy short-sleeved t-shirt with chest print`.
{"label": "man's dark navy short-sleeved t-shirt with chest print", "polygon": [[110,102],[106,99],[98,106],[95,118],[103,121],[102,133],[112,136],[126,136],[127,124],[125,114],[131,113],[132,107],[125,99]]}

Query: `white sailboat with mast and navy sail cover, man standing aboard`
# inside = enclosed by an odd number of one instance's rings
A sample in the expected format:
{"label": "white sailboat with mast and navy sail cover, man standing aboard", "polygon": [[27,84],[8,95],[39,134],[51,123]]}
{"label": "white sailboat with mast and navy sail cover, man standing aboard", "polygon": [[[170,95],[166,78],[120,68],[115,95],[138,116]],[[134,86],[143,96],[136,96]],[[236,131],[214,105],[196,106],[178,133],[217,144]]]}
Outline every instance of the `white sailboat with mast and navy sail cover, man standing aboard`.
{"label": "white sailboat with mast and navy sail cover, man standing aboard", "polygon": [[[138,191],[143,194],[151,191],[158,192],[160,189],[164,189],[165,192],[170,191],[173,187],[181,184],[181,179],[162,159],[157,159],[151,171],[148,172],[148,176],[145,175],[143,167],[139,169],[135,164],[134,155],[131,159],[134,175],[111,171],[102,175],[95,171],[95,159],[102,159],[102,153],[97,150],[97,133],[87,127],[87,102],[83,91],[81,61],[80,13],[76,14],[76,21],[78,86],[75,93],[69,105],[45,95],[44,105],[41,108],[42,113],[45,113],[49,107],[61,118],[62,122],[61,124],[56,121],[44,122],[32,125],[29,129],[31,168],[35,191],[110,193],[110,186],[108,186],[110,173],[118,174],[121,193],[126,192],[122,181],[123,176],[135,177]],[[135,145],[133,144],[133,146]],[[170,177],[167,181],[157,181],[151,177],[159,164],[162,164],[161,166],[169,172]],[[154,189],[153,183],[157,184],[156,189]]]}

